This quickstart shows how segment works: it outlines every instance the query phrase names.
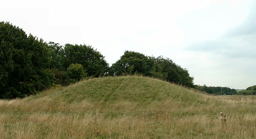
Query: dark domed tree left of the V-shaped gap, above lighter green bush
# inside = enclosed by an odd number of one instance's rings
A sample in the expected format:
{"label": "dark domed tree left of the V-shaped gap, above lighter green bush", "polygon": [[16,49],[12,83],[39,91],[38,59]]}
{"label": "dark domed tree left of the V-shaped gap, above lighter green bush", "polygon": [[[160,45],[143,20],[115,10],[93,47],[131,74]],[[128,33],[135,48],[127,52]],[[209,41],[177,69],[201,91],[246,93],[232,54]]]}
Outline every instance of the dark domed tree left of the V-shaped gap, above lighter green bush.
{"label": "dark domed tree left of the V-shaped gap, above lighter green bush", "polygon": [[87,76],[93,77],[107,75],[109,68],[104,56],[87,45],[66,44],[62,53],[61,62],[65,69],[72,63],[81,64]]}

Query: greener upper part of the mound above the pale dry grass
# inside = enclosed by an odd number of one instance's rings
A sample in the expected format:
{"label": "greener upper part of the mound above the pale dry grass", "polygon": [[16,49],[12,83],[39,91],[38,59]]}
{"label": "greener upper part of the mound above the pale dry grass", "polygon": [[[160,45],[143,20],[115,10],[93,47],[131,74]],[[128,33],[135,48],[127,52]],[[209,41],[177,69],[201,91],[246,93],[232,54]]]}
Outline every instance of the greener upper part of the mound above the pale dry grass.
{"label": "greener upper part of the mound above the pale dry grass", "polygon": [[48,91],[42,96],[69,103],[81,102],[84,99],[107,103],[120,100],[150,103],[167,99],[183,102],[184,105],[206,103],[203,101],[206,95],[194,90],[158,79],[138,76],[94,78]]}

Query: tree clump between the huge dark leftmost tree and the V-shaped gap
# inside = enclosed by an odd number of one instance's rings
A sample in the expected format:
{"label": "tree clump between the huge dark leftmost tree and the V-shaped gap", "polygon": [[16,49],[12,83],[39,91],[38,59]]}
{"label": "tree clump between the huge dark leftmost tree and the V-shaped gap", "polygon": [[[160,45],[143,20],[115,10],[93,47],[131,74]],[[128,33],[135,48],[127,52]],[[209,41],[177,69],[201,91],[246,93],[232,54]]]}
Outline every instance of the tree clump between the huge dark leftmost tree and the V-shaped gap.
{"label": "tree clump between the huge dark leftmost tree and the V-shaped gap", "polygon": [[[54,42],[48,45],[50,68],[55,74],[55,84],[66,86],[88,76],[105,76],[108,72],[108,63],[104,60],[104,56],[91,46],[72,44],[61,46]],[[81,67],[85,73],[83,76],[80,76]]]}

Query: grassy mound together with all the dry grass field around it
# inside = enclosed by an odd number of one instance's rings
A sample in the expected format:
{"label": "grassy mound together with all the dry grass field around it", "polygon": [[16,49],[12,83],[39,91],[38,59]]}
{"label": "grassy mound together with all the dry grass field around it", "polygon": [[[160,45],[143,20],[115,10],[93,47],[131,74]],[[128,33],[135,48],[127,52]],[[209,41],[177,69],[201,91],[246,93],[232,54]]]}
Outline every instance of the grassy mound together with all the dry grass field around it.
{"label": "grassy mound together with all the dry grass field around it", "polygon": [[255,138],[255,100],[209,96],[148,77],[95,78],[1,100],[0,137]]}

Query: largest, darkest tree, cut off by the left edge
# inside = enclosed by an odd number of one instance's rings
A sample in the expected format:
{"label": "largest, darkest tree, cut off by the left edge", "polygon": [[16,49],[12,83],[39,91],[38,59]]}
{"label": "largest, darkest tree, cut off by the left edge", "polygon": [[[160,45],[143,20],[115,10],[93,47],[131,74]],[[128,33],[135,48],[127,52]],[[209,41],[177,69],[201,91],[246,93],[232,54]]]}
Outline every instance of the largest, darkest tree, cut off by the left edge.
{"label": "largest, darkest tree, cut off by the left edge", "polygon": [[0,22],[0,98],[24,97],[52,85],[49,51],[19,27]]}

